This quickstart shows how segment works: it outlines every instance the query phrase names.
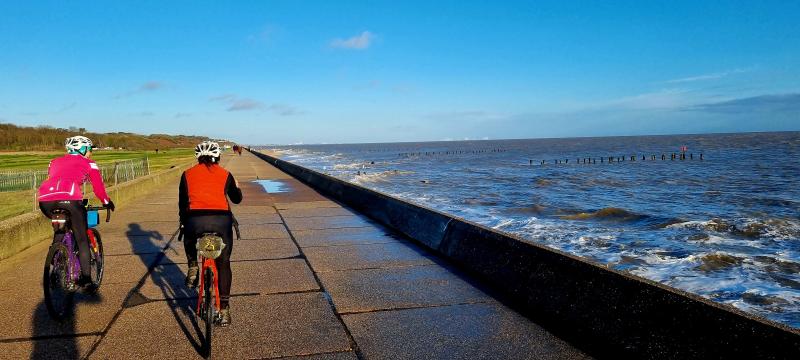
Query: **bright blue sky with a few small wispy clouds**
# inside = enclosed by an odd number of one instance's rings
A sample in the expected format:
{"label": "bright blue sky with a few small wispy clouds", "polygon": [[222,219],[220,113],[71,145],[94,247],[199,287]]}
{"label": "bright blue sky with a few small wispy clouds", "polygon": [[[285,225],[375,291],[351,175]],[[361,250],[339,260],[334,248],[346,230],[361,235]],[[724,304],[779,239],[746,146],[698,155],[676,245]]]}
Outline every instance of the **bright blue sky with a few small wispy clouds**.
{"label": "bright blue sky with a few small wispy clouds", "polygon": [[245,144],[800,130],[797,1],[4,1],[0,122]]}

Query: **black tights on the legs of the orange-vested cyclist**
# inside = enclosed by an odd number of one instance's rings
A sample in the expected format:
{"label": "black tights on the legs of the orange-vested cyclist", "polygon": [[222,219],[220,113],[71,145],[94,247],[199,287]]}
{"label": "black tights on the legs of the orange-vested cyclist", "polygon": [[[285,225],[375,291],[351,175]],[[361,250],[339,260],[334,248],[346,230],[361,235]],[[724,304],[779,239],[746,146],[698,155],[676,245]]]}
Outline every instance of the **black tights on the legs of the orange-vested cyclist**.
{"label": "black tights on the legs of the orange-vested cyclist", "polygon": [[[231,294],[231,251],[233,250],[233,219],[231,215],[190,215],[184,224],[183,249],[190,264],[197,262],[197,238],[207,232],[222,236],[225,249],[216,259],[219,271],[219,300],[223,307],[228,305]],[[200,264],[202,265],[202,264]],[[200,274],[203,276],[203,274]]]}

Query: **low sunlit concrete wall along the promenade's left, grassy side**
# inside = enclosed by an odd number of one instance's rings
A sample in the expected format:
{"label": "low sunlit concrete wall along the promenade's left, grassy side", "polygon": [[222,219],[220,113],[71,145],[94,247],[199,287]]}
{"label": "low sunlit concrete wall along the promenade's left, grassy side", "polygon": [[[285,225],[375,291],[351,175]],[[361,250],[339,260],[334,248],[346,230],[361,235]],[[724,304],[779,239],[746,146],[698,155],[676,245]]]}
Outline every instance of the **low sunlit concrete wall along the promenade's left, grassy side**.
{"label": "low sunlit concrete wall along the promenade's left, grassy side", "polygon": [[[136,198],[147,195],[153,188],[165,182],[180,178],[183,170],[193,163],[176,166],[135,180],[131,180],[107,189],[109,196],[117,207],[125,206]],[[177,191],[177,190],[176,190]],[[94,194],[92,194],[92,197]],[[105,215],[101,214],[100,221]],[[15,216],[0,222],[0,260],[11,257],[37,243],[52,238],[53,228],[49,219],[39,211]],[[44,259],[42,259],[44,261]]]}

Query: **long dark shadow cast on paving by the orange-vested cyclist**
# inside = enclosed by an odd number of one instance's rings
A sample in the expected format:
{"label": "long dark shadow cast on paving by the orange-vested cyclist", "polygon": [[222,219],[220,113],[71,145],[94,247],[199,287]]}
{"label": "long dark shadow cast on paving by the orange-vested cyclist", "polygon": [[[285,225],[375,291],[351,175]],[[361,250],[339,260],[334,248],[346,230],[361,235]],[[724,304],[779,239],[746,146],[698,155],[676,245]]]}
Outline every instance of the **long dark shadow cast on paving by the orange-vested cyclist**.
{"label": "long dark shadow cast on paving by the orange-vested cyclist", "polygon": [[[197,292],[184,284],[184,272],[181,266],[173,262],[168,255],[183,257],[183,244],[175,239],[164,239],[158,231],[143,229],[140,224],[131,223],[126,232],[128,241],[139,255],[142,263],[150,269],[148,280],[144,286],[155,285],[163,295],[164,300],[148,299],[141,292],[132,296],[128,306],[136,306],[151,301],[166,301],[169,304],[175,322],[180,327],[186,339],[201,356],[202,331],[195,316],[197,305]],[[177,224],[175,225],[177,228]],[[162,240],[166,240],[162,241]],[[157,254],[154,256],[154,254]],[[179,261],[180,262],[180,261]]]}

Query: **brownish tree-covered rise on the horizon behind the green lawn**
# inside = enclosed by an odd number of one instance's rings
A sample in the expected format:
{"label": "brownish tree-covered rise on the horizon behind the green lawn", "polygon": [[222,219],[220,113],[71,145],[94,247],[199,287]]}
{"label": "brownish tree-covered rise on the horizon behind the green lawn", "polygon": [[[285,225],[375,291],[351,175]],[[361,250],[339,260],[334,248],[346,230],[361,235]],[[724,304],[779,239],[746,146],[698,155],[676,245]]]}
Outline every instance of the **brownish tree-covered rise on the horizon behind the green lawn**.
{"label": "brownish tree-covered rise on the horizon behind the green lawn", "polygon": [[64,139],[83,135],[97,147],[132,150],[154,150],[194,147],[205,137],[187,135],[140,135],[126,132],[94,133],[84,128],[68,129],[51,126],[17,126],[0,123],[0,151],[50,151],[64,148]]}

